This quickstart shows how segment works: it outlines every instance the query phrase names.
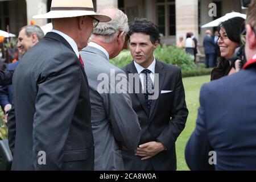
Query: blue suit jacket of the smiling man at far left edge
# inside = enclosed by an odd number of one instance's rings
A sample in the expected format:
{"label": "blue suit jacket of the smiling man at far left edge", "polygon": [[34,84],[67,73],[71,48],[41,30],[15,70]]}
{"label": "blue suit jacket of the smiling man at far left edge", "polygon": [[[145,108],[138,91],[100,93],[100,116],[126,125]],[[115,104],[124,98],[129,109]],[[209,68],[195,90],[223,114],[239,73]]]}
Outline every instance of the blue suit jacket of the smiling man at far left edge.
{"label": "blue suit jacket of the smiling man at far left edge", "polygon": [[[7,71],[14,71],[19,62],[11,63],[7,65]],[[7,104],[11,104],[13,101],[13,85],[6,85],[0,88],[0,105],[4,108]]]}

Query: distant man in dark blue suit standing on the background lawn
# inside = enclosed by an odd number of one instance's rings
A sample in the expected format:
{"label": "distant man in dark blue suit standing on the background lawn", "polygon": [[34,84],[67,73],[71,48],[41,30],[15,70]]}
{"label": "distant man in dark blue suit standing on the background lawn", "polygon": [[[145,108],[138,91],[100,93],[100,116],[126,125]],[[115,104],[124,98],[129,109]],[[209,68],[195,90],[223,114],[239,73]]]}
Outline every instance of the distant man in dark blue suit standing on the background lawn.
{"label": "distant man in dark blue suit standing on the background lawn", "polygon": [[214,67],[214,57],[215,57],[215,43],[212,37],[212,31],[205,31],[204,37],[204,53],[205,53],[205,68]]}

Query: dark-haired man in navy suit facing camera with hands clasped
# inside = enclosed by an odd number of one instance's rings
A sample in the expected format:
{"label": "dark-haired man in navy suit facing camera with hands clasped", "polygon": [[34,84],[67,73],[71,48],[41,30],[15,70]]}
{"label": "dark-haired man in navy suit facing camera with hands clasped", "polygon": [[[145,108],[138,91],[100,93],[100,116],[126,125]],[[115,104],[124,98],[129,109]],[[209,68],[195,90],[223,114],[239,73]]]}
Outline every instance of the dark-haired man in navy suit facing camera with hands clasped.
{"label": "dark-haired man in navy suit facing camera with hands clasped", "polygon": [[154,23],[137,19],[131,24],[129,35],[134,61],[122,69],[127,75],[139,74],[139,85],[133,83],[135,93],[131,93],[131,100],[142,132],[135,155],[123,148],[125,169],[175,170],[175,142],[188,116],[180,68],[155,59],[159,32]]}

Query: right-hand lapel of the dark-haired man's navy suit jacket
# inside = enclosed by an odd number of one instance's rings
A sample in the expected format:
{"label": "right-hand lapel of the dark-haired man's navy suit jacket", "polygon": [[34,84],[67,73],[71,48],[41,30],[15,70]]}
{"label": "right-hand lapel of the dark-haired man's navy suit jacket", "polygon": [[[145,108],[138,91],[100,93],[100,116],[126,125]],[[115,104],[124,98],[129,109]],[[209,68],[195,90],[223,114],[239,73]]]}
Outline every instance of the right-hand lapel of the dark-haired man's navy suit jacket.
{"label": "right-hand lapel of the dark-haired man's navy suit jacket", "polygon": [[[163,87],[164,78],[166,76],[166,72],[163,69],[162,63],[158,60],[156,60],[156,64],[155,64],[155,74],[156,73],[159,74],[159,90],[158,90],[159,93],[158,93],[158,96],[160,96],[161,90],[162,90],[162,87]],[[154,85],[155,85],[155,82],[156,82],[156,79],[154,80]],[[157,108],[156,106],[158,105],[158,101],[159,101],[158,99],[152,100],[152,104],[151,104],[151,108],[150,108],[150,115],[149,115],[149,118],[148,118],[149,121],[150,121],[152,115],[156,111],[155,108]]]}

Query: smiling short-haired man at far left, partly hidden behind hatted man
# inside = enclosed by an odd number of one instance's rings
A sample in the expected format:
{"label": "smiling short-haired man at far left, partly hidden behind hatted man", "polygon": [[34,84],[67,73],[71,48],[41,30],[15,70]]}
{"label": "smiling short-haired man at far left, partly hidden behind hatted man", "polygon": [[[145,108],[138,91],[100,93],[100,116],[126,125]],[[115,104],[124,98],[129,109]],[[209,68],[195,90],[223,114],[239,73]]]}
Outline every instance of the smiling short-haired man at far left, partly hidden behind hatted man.
{"label": "smiling short-haired man at far left, partly hidden behind hatted man", "polygon": [[[17,47],[19,53],[24,55],[31,47],[35,46],[44,37],[44,32],[39,26],[28,25],[20,28]],[[7,65],[7,71],[14,71],[19,61]],[[7,123],[7,112],[11,109],[13,101],[13,85],[6,85],[0,88],[0,105],[5,111],[5,123]]]}

